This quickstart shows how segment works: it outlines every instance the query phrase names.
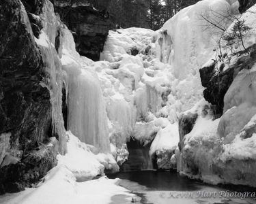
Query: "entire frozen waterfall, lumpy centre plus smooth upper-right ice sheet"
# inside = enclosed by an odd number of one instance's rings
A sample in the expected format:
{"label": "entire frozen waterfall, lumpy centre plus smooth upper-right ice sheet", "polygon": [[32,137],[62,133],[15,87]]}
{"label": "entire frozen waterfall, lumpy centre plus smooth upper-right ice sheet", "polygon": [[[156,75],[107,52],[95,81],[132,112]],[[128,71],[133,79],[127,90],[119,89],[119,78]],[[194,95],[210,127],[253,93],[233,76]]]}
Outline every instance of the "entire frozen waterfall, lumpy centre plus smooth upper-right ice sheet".
{"label": "entire frozen waterfall, lumpy centre plus smooth upper-right ice sheet", "polygon": [[[175,123],[202,98],[198,69],[214,54],[214,37],[220,35],[199,18],[213,18],[214,12],[236,13],[235,5],[238,9],[236,2],[200,1],[171,18],[160,31],[110,31],[101,54],[107,62],[94,63],[92,68],[101,82],[115,146],[132,136],[141,142],[154,139],[152,154],[170,147],[175,150],[179,138]],[[167,119],[167,124],[156,125],[159,118]]]}

